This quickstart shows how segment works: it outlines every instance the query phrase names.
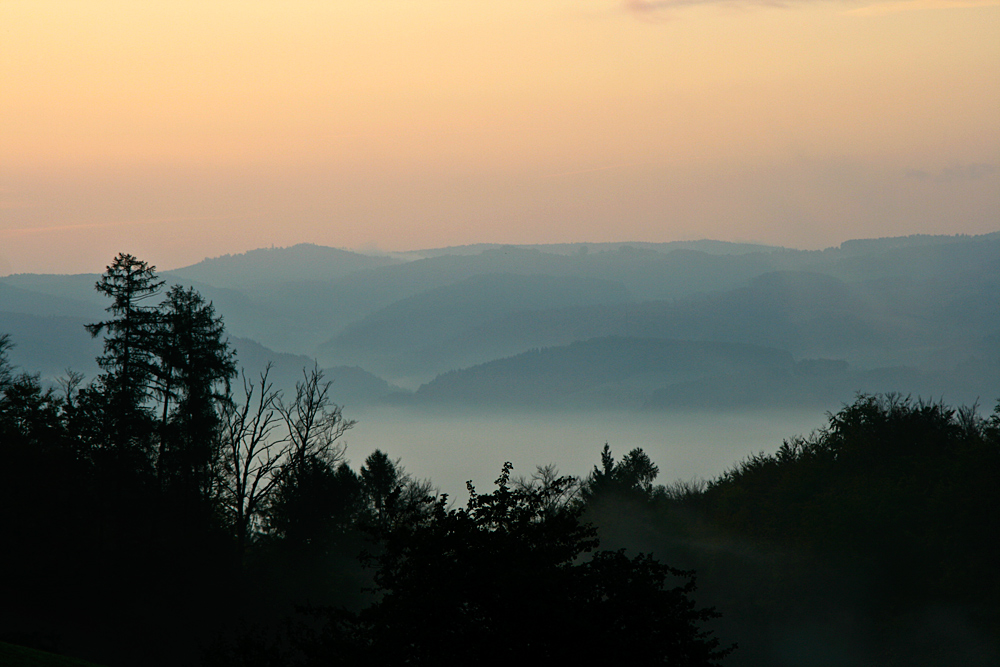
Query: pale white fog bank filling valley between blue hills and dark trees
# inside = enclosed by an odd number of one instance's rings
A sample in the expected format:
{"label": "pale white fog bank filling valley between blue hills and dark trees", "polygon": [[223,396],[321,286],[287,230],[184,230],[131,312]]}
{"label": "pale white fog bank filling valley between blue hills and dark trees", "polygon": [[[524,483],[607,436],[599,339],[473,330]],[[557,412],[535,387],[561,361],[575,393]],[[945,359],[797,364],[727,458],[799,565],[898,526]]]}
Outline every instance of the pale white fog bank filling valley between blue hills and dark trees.
{"label": "pale white fog bank filling valley between blue hills and dark trees", "polygon": [[350,417],[358,420],[345,436],[350,461],[381,449],[460,503],[466,481],[490,488],[504,461],[514,464],[515,477],[530,477],[550,463],[563,474],[585,477],[600,463],[605,443],[620,454],[642,448],[660,467],[660,482],[710,479],[825,421],[815,409],[483,413],[389,406],[355,410]]}

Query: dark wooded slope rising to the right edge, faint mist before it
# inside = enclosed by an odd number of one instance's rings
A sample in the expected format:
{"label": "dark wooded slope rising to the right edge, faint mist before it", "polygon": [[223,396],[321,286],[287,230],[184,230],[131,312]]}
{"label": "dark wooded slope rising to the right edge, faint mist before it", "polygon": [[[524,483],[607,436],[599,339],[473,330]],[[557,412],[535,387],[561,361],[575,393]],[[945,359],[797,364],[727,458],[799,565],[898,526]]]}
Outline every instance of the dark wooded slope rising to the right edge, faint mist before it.
{"label": "dark wooded slope rising to the right edge, faint mist before it", "polygon": [[1000,406],[861,395],[709,482],[652,487],[606,451],[587,516],[607,545],[697,569],[740,645],[727,664],[993,665],[998,473]]}

